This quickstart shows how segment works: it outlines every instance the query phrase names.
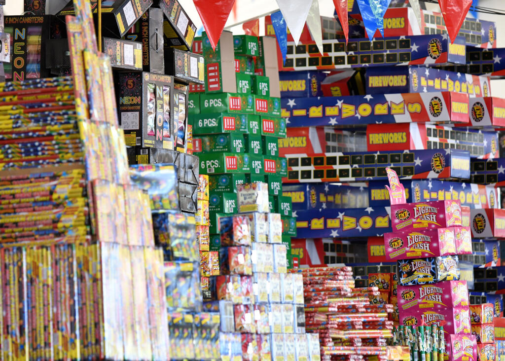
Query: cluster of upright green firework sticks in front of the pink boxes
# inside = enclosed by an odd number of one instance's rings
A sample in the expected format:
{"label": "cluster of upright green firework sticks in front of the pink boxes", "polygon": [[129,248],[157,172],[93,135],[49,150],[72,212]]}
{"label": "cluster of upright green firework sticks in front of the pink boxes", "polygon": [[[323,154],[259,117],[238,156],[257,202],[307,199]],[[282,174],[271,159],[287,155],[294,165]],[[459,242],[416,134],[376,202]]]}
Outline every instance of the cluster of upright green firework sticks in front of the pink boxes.
{"label": "cluster of upright green firework sticks in front of the pink boxes", "polygon": [[403,326],[393,328],[393,345],[408,346],[412,361],[443,361],[445,336],[443,326]]}

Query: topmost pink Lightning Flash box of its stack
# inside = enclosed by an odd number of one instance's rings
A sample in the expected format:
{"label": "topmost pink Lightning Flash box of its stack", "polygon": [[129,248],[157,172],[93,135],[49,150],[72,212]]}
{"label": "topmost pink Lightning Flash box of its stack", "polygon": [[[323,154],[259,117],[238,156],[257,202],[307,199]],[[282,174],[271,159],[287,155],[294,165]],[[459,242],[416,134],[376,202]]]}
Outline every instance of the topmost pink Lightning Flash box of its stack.
{"label": "topmost pink Lightning Flash box of its stack", "polygon": [[426,229],[461,226],[459,200],[391,204],[394,231],[424,231]]}

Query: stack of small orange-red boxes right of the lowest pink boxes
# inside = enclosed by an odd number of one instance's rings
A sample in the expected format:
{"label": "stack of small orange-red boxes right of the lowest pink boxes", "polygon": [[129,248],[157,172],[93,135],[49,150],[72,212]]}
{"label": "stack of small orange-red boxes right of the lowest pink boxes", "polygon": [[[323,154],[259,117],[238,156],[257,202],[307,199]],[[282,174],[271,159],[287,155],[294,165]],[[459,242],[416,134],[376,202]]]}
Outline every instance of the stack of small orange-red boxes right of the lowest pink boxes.
{"label": "stack of small orange-red boxes right of the lowest pink boxes", "polygon": [[494,306],[492,303],[472,304],[470,306],[472,334],[477,338],[480,361],[494,360],[496,357],[493,319]]}

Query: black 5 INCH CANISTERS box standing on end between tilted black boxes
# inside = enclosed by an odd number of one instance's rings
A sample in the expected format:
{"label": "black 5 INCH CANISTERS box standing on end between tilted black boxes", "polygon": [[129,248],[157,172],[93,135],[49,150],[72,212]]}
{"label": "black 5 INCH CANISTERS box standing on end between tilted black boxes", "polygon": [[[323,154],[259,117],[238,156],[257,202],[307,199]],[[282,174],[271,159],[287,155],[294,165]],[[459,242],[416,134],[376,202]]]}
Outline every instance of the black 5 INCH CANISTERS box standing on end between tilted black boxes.
{"label": "black 5 INCH CANISTERS box standing on end between tilted black boxes", "polygon": [[165,74],[161,9],[149,8],[135,23],[134,32],[128,32],[124,38],[142,43],[142,69],[144,71]]}

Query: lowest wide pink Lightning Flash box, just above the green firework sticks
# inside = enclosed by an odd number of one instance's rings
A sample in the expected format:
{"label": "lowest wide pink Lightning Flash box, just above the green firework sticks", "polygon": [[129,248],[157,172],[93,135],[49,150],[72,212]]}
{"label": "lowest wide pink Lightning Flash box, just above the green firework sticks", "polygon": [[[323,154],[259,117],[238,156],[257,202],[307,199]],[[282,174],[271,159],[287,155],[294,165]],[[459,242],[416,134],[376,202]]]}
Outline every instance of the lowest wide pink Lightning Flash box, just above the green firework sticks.
{"label": "lowest wide pink Lightning Flash box, just above the green firework sticks", "polygon": [[443,326],[445,334],[470,335],[472,333],[468,306],[409,311],[402,311],[398,308],[398,313],[399,324],[403,326],[431,326],[436,324]]}

